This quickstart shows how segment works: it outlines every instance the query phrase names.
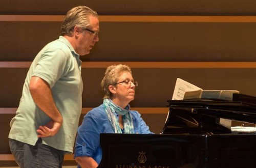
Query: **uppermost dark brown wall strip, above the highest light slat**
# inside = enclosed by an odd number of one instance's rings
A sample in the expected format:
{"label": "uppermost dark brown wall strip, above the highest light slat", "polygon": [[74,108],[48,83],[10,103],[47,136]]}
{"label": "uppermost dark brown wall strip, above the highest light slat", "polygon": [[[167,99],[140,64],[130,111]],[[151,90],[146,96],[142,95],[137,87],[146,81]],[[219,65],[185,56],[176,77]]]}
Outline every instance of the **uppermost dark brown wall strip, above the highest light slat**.
{"label": "uppermost dark brown wall strip, above the highest light slat", "polygon": [[[14,5],[15,4],[15,5]],[[85,5],[100,15],[255,15],[253,0],[24,0],[2,1],[0,14],[63,15],[75,6]]]}

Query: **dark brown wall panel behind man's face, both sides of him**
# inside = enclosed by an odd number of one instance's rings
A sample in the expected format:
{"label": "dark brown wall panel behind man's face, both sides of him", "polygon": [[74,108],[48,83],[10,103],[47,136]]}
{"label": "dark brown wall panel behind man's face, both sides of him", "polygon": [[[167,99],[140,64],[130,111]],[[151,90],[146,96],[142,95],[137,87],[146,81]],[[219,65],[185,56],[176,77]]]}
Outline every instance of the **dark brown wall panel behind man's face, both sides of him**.
{"label": "dark brown wall panel behind man's face, both sides of him", "polygon": [[[60,22],[1,22],[0,61],[32,61]],[[82,61],[256,61],[256,22],[102,22]]]}

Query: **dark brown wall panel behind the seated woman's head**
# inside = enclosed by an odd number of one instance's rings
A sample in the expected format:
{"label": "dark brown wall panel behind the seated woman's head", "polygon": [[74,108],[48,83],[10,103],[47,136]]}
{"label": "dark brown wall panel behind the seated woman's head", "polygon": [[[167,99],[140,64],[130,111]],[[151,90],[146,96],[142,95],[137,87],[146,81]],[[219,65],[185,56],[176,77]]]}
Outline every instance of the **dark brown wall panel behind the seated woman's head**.
{"label": "dark brown wall panel behind the seated woman's head", "polygon": [[[127,64],[129,65],[129,64]],[[0,107],[17,107],[28,68],[0,68]],[[100,82],[105,68],[82,68],[83,107],[102,103]],[[180,77],[202,89],[239,90],[256,96],[256,68],[132,68],[139,82],[132,107],[166,107]]]}

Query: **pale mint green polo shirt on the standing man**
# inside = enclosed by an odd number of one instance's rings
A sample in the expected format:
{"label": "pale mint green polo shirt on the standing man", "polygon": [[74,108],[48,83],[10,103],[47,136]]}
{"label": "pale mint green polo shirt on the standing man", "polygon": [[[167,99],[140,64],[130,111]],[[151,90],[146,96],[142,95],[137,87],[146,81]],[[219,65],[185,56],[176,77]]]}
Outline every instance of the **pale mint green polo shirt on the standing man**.
{"label": "pale mint green polo shirt on the standing man", "polygon": [[49,83],[63,118],[57,134],[42,138],[42,143],[73,153],[82,108],[83,85],[79,55],[69,41],[60,36],[42,48],[29,68],[16,116],[10,122],[9,138],[34,146],[38,139],[36,130],[51,119],[36,106],[31,97],[29,83],[32,76],[38,76]]}

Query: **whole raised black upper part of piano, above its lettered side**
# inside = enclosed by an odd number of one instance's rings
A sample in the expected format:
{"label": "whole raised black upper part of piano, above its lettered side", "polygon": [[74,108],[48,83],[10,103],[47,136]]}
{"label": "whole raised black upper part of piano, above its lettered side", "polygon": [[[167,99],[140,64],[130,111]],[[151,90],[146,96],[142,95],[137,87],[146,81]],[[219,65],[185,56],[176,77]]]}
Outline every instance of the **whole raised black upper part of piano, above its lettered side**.
{"label": "whole raised black upper part of piano, above its lettered side", "polygon": [[[238,99],[239,100],[239,99]],[[254,100],[255,98],[251,99]],[[256,104],[222,100],[168,100],[169,114],[163,134],[231,133],[220,125],[220,118],[256,124]]]}

